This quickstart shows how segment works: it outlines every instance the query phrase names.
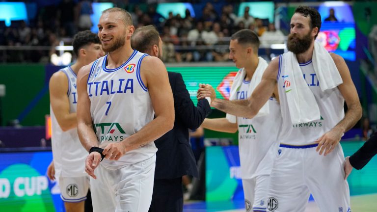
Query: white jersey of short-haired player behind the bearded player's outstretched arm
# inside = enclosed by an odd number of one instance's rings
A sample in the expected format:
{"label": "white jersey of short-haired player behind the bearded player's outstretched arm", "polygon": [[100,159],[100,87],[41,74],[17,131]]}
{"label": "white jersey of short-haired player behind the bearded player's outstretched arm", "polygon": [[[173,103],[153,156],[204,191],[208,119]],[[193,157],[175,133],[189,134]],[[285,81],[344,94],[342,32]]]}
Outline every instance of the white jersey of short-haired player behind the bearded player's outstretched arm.
{"label": "white jersey of short-haired player behind the bearded player's outstretched arm", "polygon": [[[247,99],[251,96],[251,93],[247,92],[249,86],[250,81],[242,82],[237,91],[237,99]],[[279,103],[275,98],[269,98],[268,101],[268,115],[251,119],[237,117],[242,179],[271,172],[279,145],[277,136],[282,121]]]}

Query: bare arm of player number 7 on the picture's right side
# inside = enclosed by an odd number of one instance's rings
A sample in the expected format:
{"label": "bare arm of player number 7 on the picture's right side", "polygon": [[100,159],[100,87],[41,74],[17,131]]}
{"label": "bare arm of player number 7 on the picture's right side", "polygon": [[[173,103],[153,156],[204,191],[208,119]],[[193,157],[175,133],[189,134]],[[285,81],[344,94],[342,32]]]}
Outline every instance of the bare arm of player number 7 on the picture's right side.
{"label": "bare arm of player number 7 on the picture's right side", "polygon": [[173,129],[174,125],[173,94],[162,61],[157,57],[145,57],[140,75],[148,87],[156,118],[122,141],[127,152],[156,140]]}

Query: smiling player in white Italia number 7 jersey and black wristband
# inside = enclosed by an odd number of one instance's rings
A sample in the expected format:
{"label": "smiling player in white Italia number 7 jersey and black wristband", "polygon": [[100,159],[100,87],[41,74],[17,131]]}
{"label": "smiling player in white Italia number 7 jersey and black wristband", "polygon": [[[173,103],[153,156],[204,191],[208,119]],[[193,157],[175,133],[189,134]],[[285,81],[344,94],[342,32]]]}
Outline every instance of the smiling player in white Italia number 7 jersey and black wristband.
{"label": "smiling player in white Italia number 7 jersey and black wristband", "polygon": [[124,9],[104,10],[98,30],[108,55],[81,68],[77,109],[93,211],[146,212],[157,151],[152,141],[174,123],[167,71],[159,58],[131,48],[135,27]]}

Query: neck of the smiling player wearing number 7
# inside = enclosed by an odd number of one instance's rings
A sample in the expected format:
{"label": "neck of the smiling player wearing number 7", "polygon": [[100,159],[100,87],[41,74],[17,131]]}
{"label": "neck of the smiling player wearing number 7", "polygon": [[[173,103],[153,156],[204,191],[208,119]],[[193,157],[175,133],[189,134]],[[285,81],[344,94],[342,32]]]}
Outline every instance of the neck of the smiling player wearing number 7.
{"label": "neck of the smiling player wearing number 7", "polygon": [[134,50],[131,48],[131,45],[127,45],[127,43],[114,52],[109,52],[108,64],[106,65],[106,67],[112,69],[121,66],[130,58],[133,52]]}

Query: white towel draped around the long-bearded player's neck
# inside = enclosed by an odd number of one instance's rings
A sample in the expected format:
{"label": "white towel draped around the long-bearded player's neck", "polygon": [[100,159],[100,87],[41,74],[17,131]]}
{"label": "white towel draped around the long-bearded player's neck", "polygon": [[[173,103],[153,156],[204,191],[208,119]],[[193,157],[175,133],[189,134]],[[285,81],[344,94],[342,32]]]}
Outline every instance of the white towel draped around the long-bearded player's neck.
{"label": "white towel draped around the long-bearded player's neck", "polygon": [[[331,55],[318,42],[314,44],[312,61],[322,91],[332,89],[343,83]],[[285,80],[289,80],[291,83],[291,86],[285,87],[285,94],[292,123],[299,124],[320,119],[320,108],[302,76],[296,54],[285,53],[282,68],[284,75],[287,76]]]}

